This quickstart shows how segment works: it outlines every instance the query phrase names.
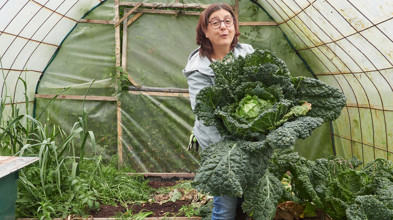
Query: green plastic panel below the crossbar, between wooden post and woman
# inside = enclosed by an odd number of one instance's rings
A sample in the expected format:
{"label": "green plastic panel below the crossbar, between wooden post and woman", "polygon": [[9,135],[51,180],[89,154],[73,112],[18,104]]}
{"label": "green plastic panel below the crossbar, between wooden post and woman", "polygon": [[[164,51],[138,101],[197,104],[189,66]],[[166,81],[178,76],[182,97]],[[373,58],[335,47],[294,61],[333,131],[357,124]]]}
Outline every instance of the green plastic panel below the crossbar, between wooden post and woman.
{"label": "green plastic panel below the crossbar, between wooden post and woman", "polygon": [[142,172],[193,172],[198,153],[187,151],[194,117],[181,96],[120,96],[125,164]]}

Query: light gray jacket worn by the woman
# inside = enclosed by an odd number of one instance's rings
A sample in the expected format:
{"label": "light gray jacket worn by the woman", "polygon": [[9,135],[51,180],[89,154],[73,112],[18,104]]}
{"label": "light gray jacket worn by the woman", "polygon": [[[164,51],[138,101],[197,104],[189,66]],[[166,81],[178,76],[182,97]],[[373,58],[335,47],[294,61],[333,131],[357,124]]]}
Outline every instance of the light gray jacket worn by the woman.
{"label": "light gray jacket worn by the woman", "polygon": [[[247,53],[252,53],[254,49],[251,45],[238,43],[235,46],[234,55],[245,56]],[[195,107],[195,95],[204,87],[215,85],[214,72],[209,67],[210,60],[207,57],[199,56],[199,48],[194,50],[188,57],[188,63],[183,69],[183,74],[187,77],[189,99],[191,101],[192,110]],[[210,144],[221,141],[224,138],[216,129],[216,126],[205,126],[202,121],[195,117],[195,124],[193,127],[194,136],[197,138],[202,150]]]}

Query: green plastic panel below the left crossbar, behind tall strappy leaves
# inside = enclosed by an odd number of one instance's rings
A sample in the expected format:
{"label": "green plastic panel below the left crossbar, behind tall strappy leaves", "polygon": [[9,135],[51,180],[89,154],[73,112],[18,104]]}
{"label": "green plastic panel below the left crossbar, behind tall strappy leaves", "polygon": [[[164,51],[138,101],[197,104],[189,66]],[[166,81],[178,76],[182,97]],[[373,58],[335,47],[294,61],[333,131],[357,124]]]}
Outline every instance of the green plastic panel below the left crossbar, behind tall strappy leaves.
{"label": "green plastic panel below the left crossbar, behind tall strappy leaves", "polygon": [[[48,104],[50,99],[37,98],[36,99],[36,115],[40,115],[43,108]],[[82,117],[83,107],[87,109],[87,131],[93,131],[96,141],[96,150],[98,155],[103,158],[110,159],[113,155],[117,154],[117,127],[116,127],[116,101],[93,101],[93,100],[69,100],[69,99],[55,99],[49,104],[45,112],[42,113],[40,121],[49,129],[56,126],[65,133],[70,134],[72,127]],[[58,126],[58,127],[57,127]],[[58,143],[62,143],[62,137],[57,137]],[[80,146],[81,141],[76,137],[73,144]],[[93,149],[90,144],[86,147],[87,157],[94,155]]]}

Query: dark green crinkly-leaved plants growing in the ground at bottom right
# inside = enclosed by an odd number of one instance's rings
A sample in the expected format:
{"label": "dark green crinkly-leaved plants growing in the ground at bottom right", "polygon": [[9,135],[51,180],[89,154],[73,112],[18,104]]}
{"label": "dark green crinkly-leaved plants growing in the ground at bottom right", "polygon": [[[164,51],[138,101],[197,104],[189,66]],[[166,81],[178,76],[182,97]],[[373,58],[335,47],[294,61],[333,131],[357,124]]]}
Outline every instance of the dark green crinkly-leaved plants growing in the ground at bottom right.
{"label": "dark green crinkly-leaved plants growing in the ground at bottom right", "polygon": [[308,161],[291,149],[280,149],[269,170],[277,178],[291,172],[294,195],[284,192],[285,200],[308,200],[336,220],[392,220],[392,162],[378,158],[356,170],[361,164],[356,157],[339,156]]}

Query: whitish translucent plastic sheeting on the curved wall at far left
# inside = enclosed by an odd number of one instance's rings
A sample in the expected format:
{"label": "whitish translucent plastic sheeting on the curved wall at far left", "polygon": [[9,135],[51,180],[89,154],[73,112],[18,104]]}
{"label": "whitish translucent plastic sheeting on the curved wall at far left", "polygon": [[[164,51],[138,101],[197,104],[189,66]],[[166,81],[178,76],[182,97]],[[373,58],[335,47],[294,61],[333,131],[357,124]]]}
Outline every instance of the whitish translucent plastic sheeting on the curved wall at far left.
{"label": "whitish translucent plastic sheeting on the curved wall at far left", "polygon": [[[41,73],[65,35],[77,21],[101,1],[0,1],[0,58],[3,64],[2,96],[24,103],[34,100],[35,87]],[[8,91],[6,91],[6,84]],[[33,104],[31,104],[33,106]],[[24,109],[24,107],[21,107]]]}

